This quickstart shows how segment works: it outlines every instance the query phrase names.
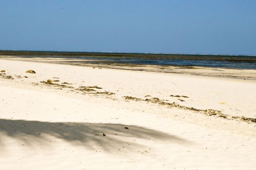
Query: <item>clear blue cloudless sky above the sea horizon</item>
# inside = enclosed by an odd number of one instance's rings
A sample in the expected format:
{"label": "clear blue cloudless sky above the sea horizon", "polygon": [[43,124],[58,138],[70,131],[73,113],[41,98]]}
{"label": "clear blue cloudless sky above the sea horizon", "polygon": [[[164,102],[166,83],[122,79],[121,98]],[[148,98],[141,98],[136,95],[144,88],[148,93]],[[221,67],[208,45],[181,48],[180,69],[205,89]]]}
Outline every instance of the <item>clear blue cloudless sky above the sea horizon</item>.
{"label": "clear blue cloudless sky above the sea horizon", "polygon": [[256,55],[256,0],[0,0],[0,50]]}

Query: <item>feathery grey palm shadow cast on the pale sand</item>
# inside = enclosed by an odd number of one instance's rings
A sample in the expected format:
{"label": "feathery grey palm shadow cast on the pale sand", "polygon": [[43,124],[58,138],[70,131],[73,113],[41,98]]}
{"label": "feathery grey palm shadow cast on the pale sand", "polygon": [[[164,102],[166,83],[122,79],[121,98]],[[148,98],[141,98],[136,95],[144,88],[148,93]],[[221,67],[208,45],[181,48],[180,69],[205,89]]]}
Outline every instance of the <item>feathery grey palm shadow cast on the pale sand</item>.
{"label": "feathery grey palm shadow cast on the pale sand", "polygon": [[[106,136],[103,136],[103,133]],[[4,136],[23,141],[27,145],[49,144],[49,138],[55,137],[71,144],[91,149],[100,146],[106,150],[124,144],[128,144],[130,149],[141,146],[136,143],[136,139],[162,140],[180,144],[188,142],[178,136],[135,125],[11,119],[0,119],[0,136],[0,143],[4,140]]]}

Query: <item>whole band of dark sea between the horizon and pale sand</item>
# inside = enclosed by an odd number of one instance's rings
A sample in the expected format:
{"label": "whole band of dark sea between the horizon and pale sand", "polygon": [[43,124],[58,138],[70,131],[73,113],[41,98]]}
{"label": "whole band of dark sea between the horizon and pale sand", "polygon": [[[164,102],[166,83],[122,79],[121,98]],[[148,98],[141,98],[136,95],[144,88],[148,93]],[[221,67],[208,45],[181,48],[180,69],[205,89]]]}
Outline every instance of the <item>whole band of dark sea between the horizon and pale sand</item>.
{"label": "whole band of dark sea between the horizon and pale sand", "polygon": [[[0,51],[15,53],[21,58],[56,58],[64,62],[105,65],[199,66],[213,68],[256,69],[256,55],[174,54],[174,53],[121,53],[70,51]],[[7,53],[7,54],[6,54]],[[9,55],[10,55],[9,54]],[[21,55],[20,55],[21,54]],[[25,54],[25,55],[24,55]],[[67,60],[67,61],[65,61]]]}

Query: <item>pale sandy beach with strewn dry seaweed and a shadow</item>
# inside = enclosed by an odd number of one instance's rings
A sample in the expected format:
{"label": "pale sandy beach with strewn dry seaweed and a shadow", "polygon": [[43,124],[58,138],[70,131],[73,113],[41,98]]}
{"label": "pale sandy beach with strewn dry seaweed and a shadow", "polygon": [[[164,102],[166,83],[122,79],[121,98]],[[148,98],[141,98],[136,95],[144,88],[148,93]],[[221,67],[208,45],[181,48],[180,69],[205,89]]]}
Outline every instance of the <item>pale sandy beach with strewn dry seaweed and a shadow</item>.
{"label": "pale sandy beach with strewn dry seaweed and a shadow", "polygon": [[255,170],[254,70],[0,70],[1,170]]}

